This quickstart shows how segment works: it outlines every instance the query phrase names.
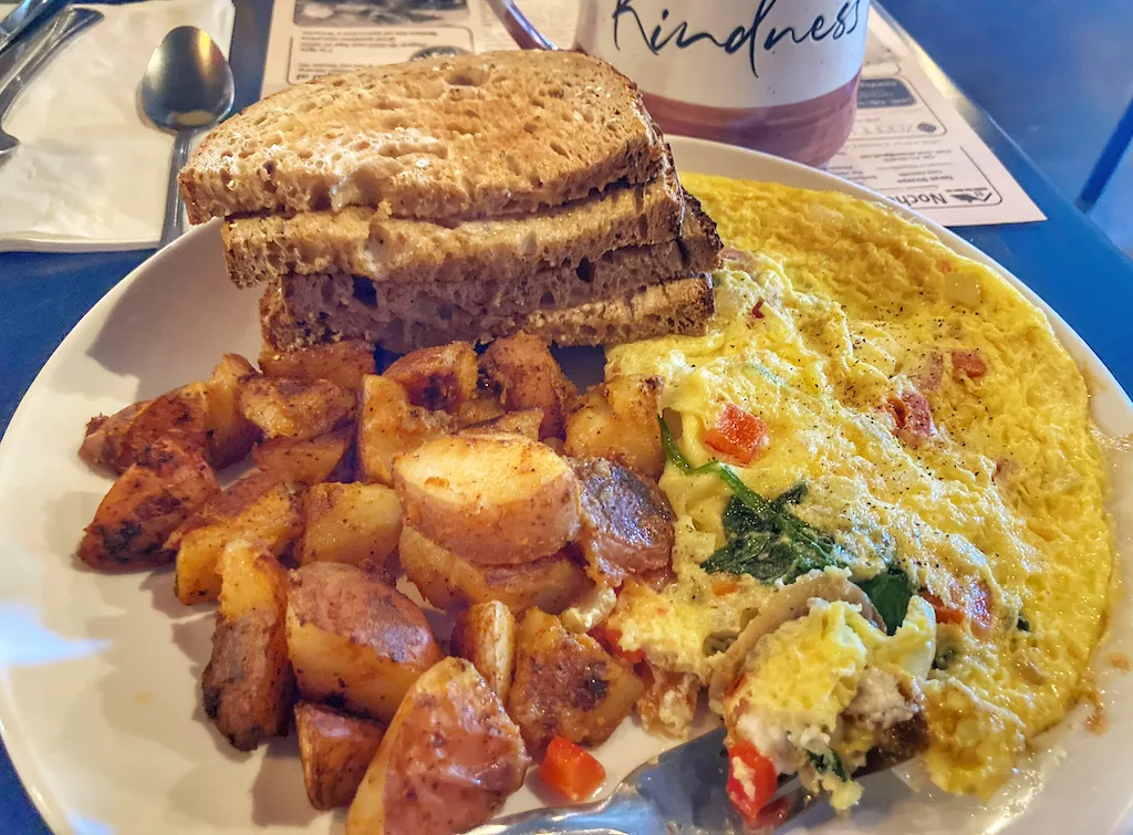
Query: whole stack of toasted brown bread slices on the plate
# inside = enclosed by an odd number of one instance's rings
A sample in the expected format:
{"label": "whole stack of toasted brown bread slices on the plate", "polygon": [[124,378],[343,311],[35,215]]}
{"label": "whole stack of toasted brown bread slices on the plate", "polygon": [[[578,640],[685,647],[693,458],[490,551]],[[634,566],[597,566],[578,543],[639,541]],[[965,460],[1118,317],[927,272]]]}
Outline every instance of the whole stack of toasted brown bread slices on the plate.
{"label": "whole stack of toasted brown bread slices on the plate", "polygon": [[702,333],[715,224],[637,87],[574,52],[315,79],[214,130],[181,172],[276,349],[403,352],[525,330],[563,346]]}

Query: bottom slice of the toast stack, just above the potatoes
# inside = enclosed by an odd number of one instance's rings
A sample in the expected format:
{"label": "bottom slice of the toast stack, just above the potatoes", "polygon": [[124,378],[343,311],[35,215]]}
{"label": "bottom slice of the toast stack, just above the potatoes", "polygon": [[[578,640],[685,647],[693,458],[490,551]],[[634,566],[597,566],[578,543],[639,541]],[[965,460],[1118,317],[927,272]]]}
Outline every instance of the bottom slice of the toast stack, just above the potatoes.
{"label": "bottom slice of the toast stack, just above the potatoes", "polygon": [[278,283],[269,284],[259,307],[264,340],[279,350],[363,339],[397,353],[455,340],[486,342],[520,330],[559,346],[608,346],[671,334],[699,335],[707,331],[715,310],[709,273],[674,278],[610,299],[500,317],[471,327],[457,327],[451,321],[437,318],[395,318],[378,324],[366,315],[368,312],[357,308],[320,313],[304,321],[287,309]]}

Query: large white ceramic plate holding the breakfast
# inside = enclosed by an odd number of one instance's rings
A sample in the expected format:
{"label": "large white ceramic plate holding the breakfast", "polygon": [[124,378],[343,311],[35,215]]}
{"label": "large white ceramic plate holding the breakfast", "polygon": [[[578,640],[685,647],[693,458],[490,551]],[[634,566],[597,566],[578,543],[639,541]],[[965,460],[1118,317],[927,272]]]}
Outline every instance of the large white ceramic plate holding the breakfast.
{"label": "large white ceramic plate holding the breakfast", "polygon": [[[880,199],[782,160],[682,138],[672,144],[684,171]],[[999,269],[928,225],[957,253]],[[1047,312],[1088,372],[1101,431],[1133,433],[1133,406],[1097,357],[1021,282],[1006,278]],[[323,815],[307,804],[293,739],[242,755],[205,721],[199,679],[212,611],[178,604],[170,571],[108,577],[74,556],[110,486],[76,458],[86,420],[202,378],[225,351],[254,358],[258,347],[256,293],[225,280],[218,227],[194,230],[83,318],[35,380],[0,443],[0,725],[24,784],[58,833],[341,830],[341,812]],[[588,361],[590,374],[600,374],[594,355]],[[1131,477],[1131,457],[1115,454],[1111,510],[1124,573],[1133,569]],[[1124,603],[1099,657],[1111,651],[1133,654]],[[1101,662],[1097,670],[1108,732],[1081,730],[1081,716],[1064,723],[989,806],[914,793],[879,775],[852,817],[834,819],[819,809],[804,823],[823,833],[1130,830],[1133,679]],[[661,747],[624,723],[599,751],[610,785]],[[508,811],[538,802],[525,790]]]}

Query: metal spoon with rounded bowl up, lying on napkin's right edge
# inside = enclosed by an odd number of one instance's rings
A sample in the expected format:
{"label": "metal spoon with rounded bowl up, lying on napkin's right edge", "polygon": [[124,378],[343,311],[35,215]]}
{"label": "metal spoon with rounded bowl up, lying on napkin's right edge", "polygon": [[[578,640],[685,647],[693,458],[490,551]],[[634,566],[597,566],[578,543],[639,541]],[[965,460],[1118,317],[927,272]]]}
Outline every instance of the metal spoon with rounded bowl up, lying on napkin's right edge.
{"label": "metal spoon with rounded bowl up, lying on napkin's right edge", "polygon": [[232,68],[204,29],[178,26],[150,58],[142,78],[142,109],[154,125],[176,136],[159,246],[185,231],[185,203],[177,174],[188,161],[193,135],[219,125],[235,99]]}

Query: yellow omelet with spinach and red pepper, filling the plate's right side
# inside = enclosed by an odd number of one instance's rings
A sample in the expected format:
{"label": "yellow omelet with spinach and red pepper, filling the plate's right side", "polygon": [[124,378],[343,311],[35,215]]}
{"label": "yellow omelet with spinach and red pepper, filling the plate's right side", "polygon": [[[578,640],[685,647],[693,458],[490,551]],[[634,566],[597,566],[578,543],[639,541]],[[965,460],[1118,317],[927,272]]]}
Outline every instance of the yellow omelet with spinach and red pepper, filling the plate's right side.
{"label": "yellow omelet with spinach and red pepper, filling the plate's right side", "polygon": [[[844,578],[886,629],[816,602],[716,709],[746,692],[798,760],[806,740],[846,743],[838,717],[881,670],[915,690],[931,779],[988,798],[1066,714],[1105,628],[1114,543],[1085,381],[1020,292],[884,206],[683,182],[730,247],[716,325],[612,348],[606,367],[664,383],[678,579],[630,583],[608,622],[707,683],[783,588]],[[883,650],[898,634],[908,663]]]}

